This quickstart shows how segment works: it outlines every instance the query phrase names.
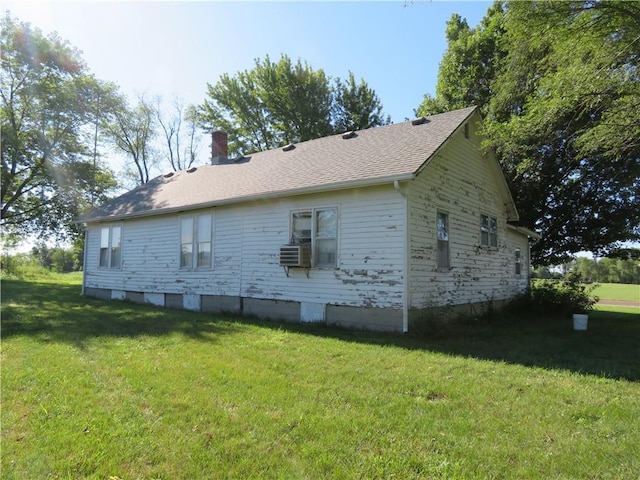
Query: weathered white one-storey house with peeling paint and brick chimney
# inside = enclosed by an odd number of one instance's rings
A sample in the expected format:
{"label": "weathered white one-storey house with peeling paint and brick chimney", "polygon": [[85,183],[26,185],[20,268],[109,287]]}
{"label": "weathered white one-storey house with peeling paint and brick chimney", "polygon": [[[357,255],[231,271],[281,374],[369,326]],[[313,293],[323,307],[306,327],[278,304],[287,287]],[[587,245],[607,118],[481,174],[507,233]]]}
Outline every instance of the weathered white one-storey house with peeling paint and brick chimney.
{"label": "weathered white one-storey house with peeling paint and brick chimney", "polygon": [[466,108],[226,157],[79,220],[83,291],[206,312],[406,332],[529,284],[529,241]]}

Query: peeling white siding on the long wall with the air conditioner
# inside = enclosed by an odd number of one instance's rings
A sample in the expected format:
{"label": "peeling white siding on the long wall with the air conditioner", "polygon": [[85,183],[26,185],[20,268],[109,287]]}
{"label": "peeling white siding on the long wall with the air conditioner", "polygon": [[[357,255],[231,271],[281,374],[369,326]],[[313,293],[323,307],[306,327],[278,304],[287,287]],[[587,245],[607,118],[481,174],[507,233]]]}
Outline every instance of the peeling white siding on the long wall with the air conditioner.
{"label": "peeling white siding on the long wall with the air conditioner", "polygon": [[[338,208],[338,268],[289,277],[279,249],[289,242],[292,210]],[[402,308],[404,207],[393,185],[217,207],[213,268],[179,268],[180,215],[122,222],[122,268],[98,268],[100,227],[89,227],[85,286],[147,293]],[[186,212],[183,216],[190,214]]]}

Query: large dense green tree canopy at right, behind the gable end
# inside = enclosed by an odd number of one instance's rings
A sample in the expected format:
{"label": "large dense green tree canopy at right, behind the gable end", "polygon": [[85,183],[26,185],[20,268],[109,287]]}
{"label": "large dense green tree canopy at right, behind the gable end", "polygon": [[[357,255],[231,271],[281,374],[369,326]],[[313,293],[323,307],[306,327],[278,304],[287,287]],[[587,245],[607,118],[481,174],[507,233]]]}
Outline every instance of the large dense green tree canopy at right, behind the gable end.
{"label": "large dense green tree canopy at right, behind the gable end", "polygon": [[640,3],[499,2],[447,39],[417,112],[481,108],[535,262],[639,239]]}

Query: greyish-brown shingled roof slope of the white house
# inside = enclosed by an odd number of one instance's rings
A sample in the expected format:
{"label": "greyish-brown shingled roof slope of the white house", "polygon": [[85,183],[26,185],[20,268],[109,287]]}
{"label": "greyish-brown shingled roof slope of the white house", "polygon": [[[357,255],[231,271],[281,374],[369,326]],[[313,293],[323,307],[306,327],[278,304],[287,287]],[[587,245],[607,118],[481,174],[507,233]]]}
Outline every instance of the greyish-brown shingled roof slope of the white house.
{"label": "greyish-brown shingled roof slope of the white house", "polygon": [[414,178],[475,107],[161,175],[79,217],[97,222]]}

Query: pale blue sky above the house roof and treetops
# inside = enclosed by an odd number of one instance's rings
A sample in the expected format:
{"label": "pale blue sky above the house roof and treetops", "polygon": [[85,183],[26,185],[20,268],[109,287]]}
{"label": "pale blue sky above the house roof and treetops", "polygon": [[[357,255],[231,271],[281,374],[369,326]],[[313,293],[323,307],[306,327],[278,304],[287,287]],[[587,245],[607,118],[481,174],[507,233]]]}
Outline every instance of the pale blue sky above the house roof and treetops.
{"label": "pale blue sky above the house roof and treetops", "polygon": [[475,26],[491,2],[3,2],[57,31],[95,75],[137,93],[202,103],[206,84],[287,54],[333,78],[352,71],[394,122],[434,93],[452,13]]}

